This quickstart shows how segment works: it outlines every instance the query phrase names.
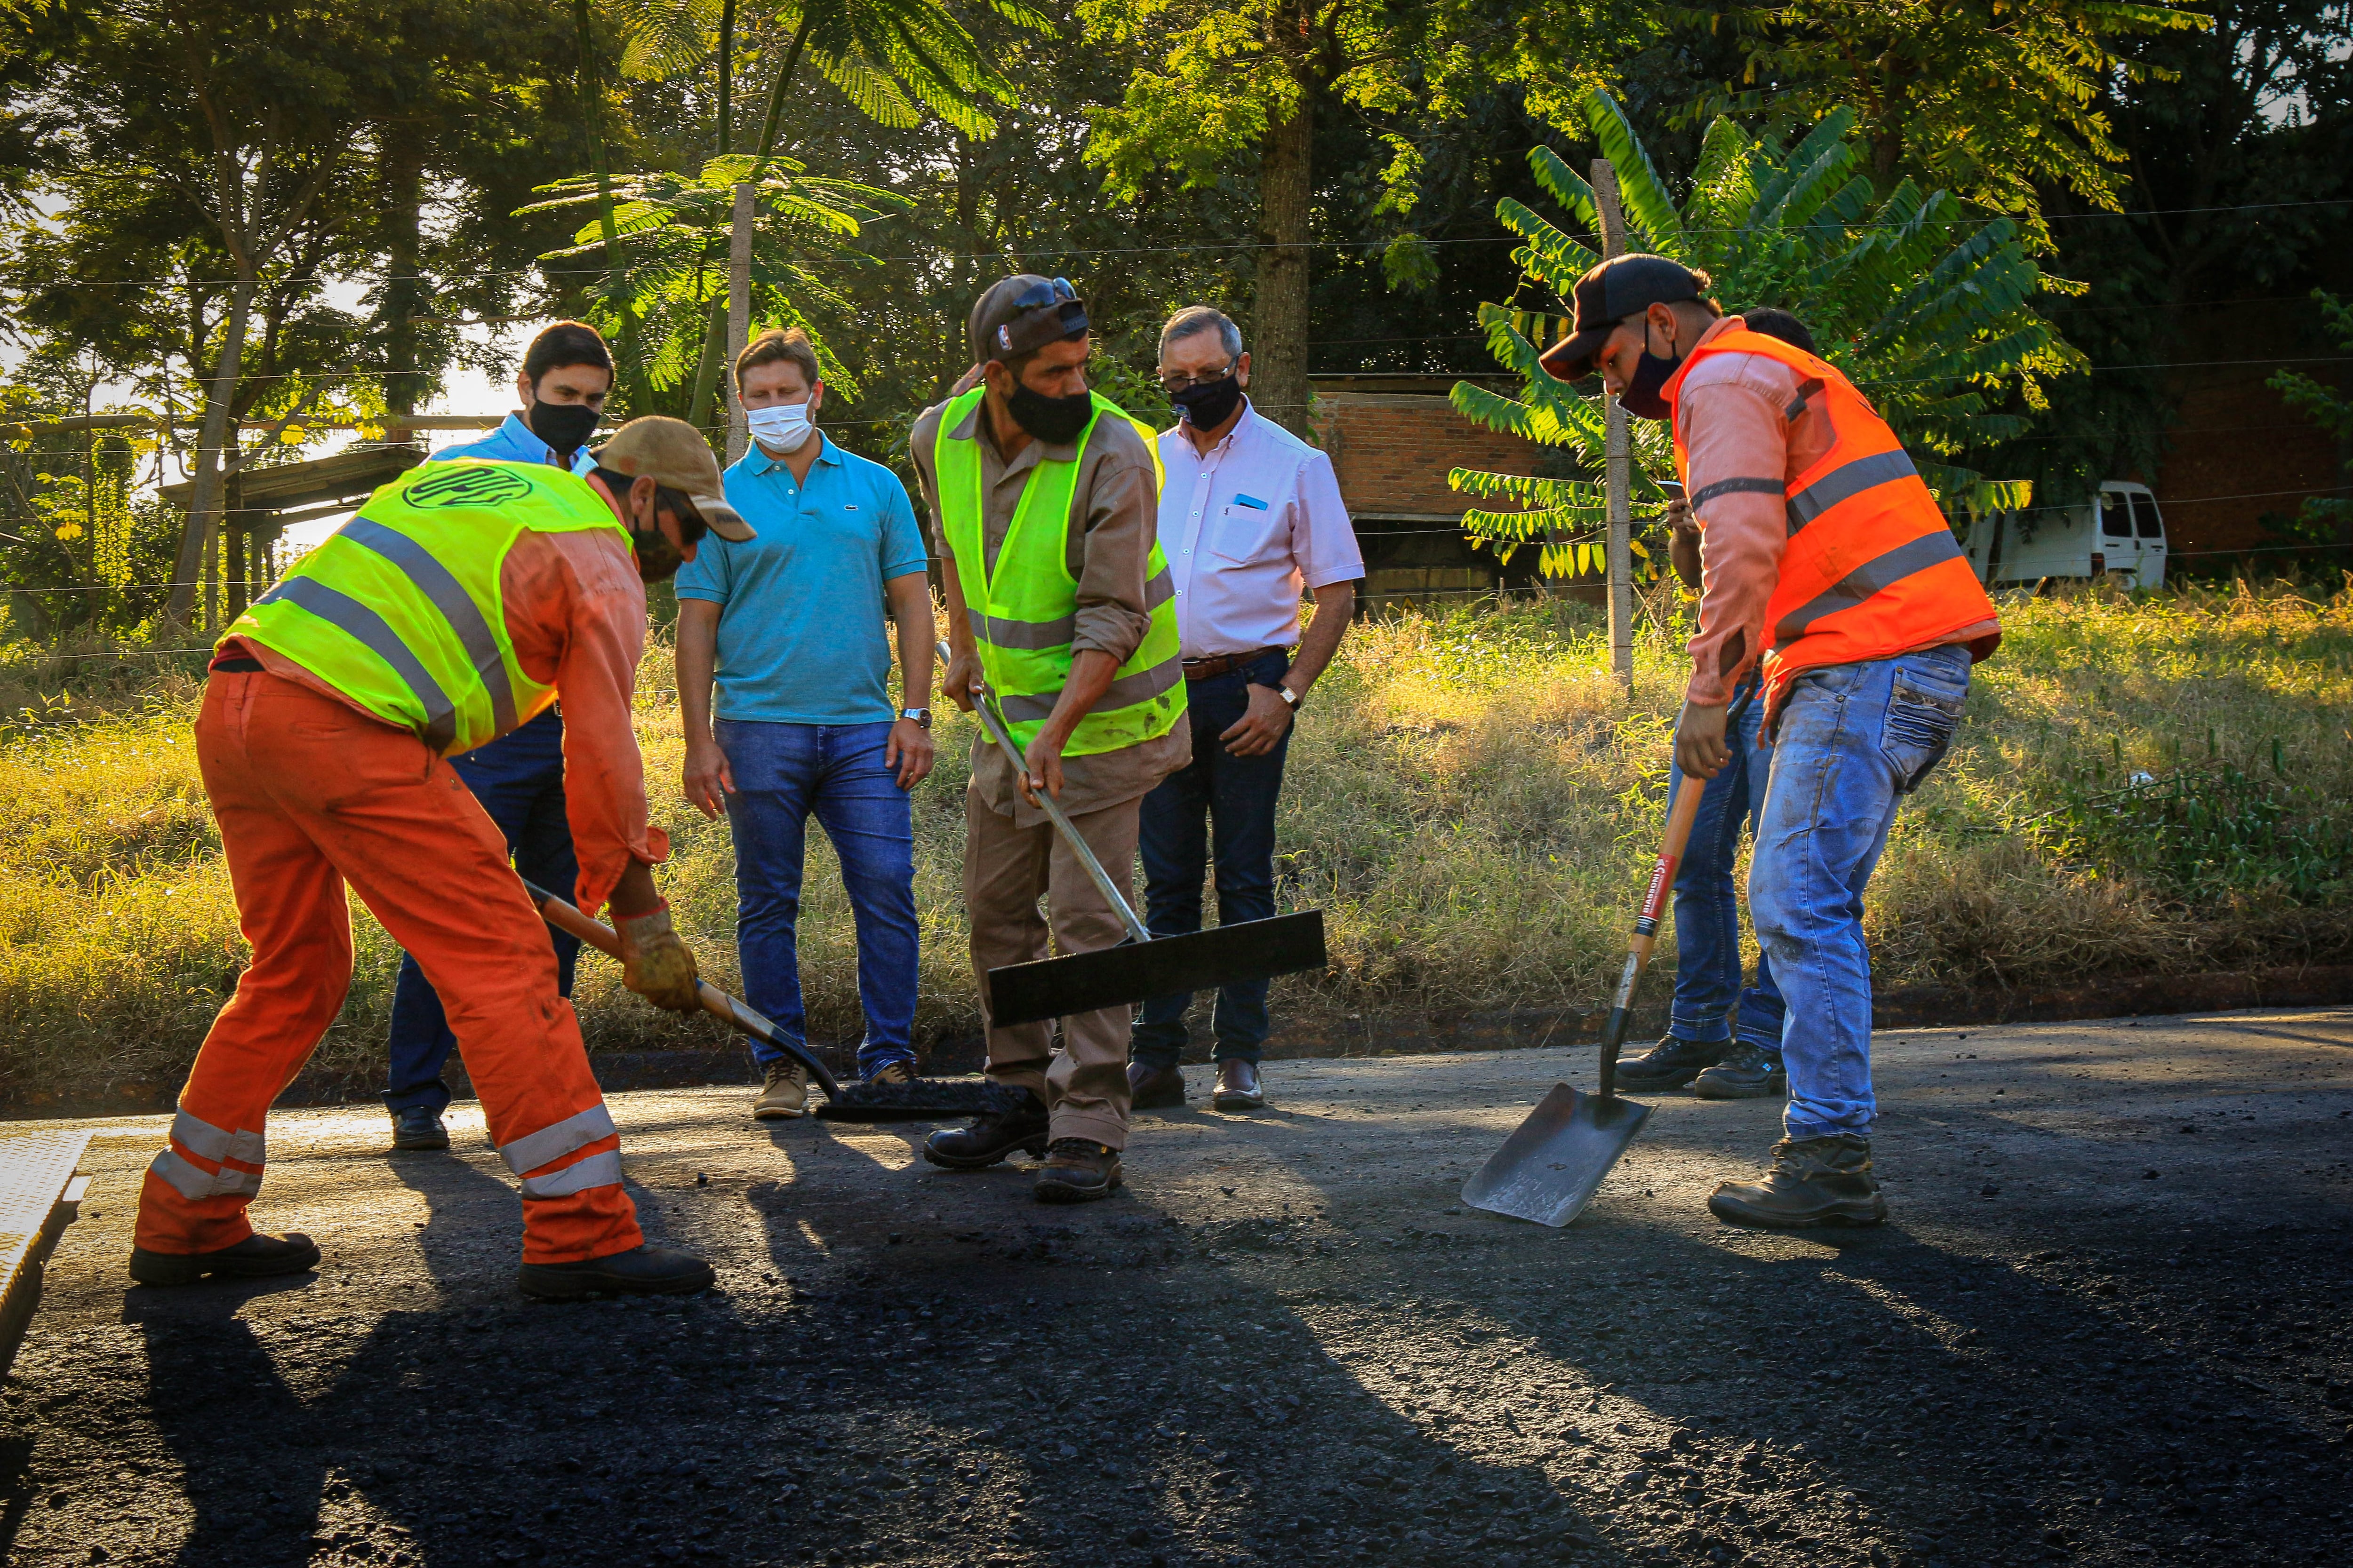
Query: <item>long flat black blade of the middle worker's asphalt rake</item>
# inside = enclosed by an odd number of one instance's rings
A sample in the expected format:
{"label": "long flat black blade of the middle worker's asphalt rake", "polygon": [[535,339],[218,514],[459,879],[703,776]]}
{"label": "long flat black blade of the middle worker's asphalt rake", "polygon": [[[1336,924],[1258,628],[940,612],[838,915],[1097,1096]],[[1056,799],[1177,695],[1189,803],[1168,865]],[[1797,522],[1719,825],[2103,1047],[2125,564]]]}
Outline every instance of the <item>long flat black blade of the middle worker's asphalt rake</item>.
{"label": "long flat black blade of the middle worker's asphalt rake", "polygon": [[1301,969],[1322,969],[1325,961],[1322,910],[1245,919],[1191,936],[991,969],[988,1023],[1002,1030],[1040,1018],[1068,1018],[1151,997],[1271,980]]}

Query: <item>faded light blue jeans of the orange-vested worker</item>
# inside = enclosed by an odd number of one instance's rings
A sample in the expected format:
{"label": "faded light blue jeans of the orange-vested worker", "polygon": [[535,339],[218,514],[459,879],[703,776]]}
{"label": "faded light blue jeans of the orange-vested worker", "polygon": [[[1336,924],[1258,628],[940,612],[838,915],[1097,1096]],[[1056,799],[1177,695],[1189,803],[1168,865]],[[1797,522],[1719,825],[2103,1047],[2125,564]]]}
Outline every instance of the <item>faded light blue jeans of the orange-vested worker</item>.
{"label": "faded light blue jeans of the orange-vested worker", "polygon": [[1788,999],[1791,1138],[1871,1135],[1871,950],[1864,884],[1897,802],[1953,743],[1969,649],[1951,644],[1791,682],[1748,863],[1748,914]]}

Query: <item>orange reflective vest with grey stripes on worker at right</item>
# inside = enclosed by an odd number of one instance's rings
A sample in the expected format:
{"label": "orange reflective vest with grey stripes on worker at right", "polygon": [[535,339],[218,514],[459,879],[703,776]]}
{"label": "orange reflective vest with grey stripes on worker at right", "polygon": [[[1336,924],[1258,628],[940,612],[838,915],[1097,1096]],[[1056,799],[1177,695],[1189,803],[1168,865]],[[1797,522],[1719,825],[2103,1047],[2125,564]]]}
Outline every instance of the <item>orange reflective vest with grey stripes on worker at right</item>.
{"label": "orange reflective vest with grey stripes on worker at right", "polygon": [[[1781,339],[1718,331],[1668,378],[1668,404],[1680,397],[1692,367],[1718,353],[1765,355],[1795,369],[1805,386],[1791,418],[1812,402],[1833,430],[1821,461],[1784,489],[1788,548],[1765,607],[1772,639],[1765,654],[1767,715],[1779,712],[1800,670],[1894,658],[1995,621],[1993,602],[1937,498],[1904,456],[1904,442],[1835,364]],[[1678,428],[1678,475],[1687,461]]]}

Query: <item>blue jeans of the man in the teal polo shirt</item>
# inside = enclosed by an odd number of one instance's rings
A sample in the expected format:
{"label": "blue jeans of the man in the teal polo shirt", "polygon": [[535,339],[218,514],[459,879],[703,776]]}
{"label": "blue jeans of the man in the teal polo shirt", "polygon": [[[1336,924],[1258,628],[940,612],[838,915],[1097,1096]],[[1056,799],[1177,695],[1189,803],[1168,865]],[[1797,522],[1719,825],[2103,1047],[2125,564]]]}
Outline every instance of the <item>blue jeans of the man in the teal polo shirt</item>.
{"label": "blue jeans of the man in the teal polo shirt", "polygon": [[[859,1004],[866,1039],[859,1072],[915,1065],[915,811],[894,769],[882,764],[889,722],[715,726],[734,792],[727,825],[736,846],[736,952],[744,999],[793,1041],[807,1044],[800,1004],[800,867],[809,813],[842,863],[842,886],[859,926]],[[762,1067],[784,1051],[753,1041]]]}

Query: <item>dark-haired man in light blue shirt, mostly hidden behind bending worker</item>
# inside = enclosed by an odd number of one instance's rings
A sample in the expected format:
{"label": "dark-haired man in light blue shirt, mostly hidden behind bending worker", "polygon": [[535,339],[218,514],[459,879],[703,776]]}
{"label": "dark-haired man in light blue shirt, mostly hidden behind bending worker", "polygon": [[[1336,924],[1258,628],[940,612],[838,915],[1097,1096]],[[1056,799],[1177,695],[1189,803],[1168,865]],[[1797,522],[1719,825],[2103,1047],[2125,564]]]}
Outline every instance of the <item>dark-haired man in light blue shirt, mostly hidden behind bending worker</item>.
{"label": "dark-haired man in light blue shirt, mostly hidden behind bending worker", "polygon": [[[508,414],[506,423],[482,440],[442,447],[426,461],[560,463],[572,473],[588,473],[595,468],[588,435],[605,414],[609,390],[612,353],[598,329],[586,322],[555,322],[522,350],[522,369],[515,371],[522,409]],[[565,724],[555,710],[489,745],[452,757],[449,766],[506,835],[515,870],[544,889],[569,896],[579,879],[579,860],[572,856],[572,823],[565,820]],[[553,926],[548,938],[555,943],[558,990],[569,997],[579,938]],[[393,1020],[386,1039],[391,1063],[384,1088],[384,1103],[393,1112],[395,1150],[449,1147],[449,1133],[442,1128],[442,1112],[449,1110],[442,1065],[452,1046],[456,1034],[449,1032],[440,997],[433,994],[416,959],[402,954],[400,978],[393,983]]]}

